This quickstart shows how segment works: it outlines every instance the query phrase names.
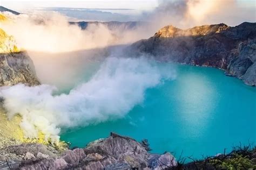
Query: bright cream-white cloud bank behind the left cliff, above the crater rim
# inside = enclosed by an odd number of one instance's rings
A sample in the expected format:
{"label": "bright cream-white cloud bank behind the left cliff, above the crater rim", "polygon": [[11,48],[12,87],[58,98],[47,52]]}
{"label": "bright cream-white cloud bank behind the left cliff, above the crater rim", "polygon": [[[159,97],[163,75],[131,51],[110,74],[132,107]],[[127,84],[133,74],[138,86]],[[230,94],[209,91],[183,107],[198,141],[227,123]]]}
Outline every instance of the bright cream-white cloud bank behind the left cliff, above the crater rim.
{"label": "bright cream-white cloud bank behind the left cliff, above the crater rim", "polygon": [[76,24],[71,25],[68,17],[51,11],[6,16],[9,22],[0,22],[0,27],[27,51],[60,53],[104,48],[131,43],[145,35],[143,31],[118,30],[118,27],[110,30],[104,24],[89,24],[82,30]]}

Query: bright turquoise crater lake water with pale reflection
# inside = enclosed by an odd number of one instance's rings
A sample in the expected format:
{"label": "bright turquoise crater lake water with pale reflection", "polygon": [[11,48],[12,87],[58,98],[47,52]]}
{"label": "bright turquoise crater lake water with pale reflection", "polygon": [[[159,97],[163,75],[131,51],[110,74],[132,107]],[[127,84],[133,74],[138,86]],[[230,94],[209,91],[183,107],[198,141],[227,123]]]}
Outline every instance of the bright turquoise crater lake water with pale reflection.
{"label": "bright turquoise crater lake water with pale reflection", "polygon": [[[61,139],[84,147],[116,132],[149,140],[153,153],[215,155],[256,139],[256,88],[222,70],[175,65],[177,78],[148,89],[123,119],[65,130]],[[86,70],[84,70],[86,72]],[[84,79],[89,79],[86,75]]]}

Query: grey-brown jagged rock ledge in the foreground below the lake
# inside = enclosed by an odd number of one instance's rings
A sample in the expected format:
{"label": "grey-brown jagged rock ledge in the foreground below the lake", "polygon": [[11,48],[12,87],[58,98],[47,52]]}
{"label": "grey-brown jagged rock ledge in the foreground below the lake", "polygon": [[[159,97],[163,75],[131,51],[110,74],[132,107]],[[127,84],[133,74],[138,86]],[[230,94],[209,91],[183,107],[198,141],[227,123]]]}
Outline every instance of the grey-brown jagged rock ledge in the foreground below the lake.
{"label": "grey-brown jagged rock ledge in the foreground below the lake", "polygon": [[[138,141],[110,134],[85,148],[62,153],[42,144],[21,144],[0,150],[0,169],[165,169],[177,166],[167,152],[151,154]],[[13,160],[6,157],[12,156]],[[15,160],[16,158],[16,160]]]}

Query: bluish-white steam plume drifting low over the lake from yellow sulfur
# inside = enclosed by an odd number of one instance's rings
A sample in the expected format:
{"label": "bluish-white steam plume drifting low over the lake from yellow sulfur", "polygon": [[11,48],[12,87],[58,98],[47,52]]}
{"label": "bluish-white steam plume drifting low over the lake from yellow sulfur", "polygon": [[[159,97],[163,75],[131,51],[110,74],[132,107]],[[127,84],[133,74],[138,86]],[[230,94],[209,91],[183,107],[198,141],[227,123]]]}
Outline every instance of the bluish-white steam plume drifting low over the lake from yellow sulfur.
{"label": "bluish-white steam plume drifting low over the lake from yellow sulfur", "polygon": [[53,95],[57,90],[43,84],[26,87],[18,84],[1,89],[9,118],[22,115],[25,136],[37,137],[41,131],[46,139],[59,140],[60,128],[86,126],[124,117],[134,105],[144,100],[145,90],[173,79],[172,69],[159,67],[143,58],[107,58],[86,83],[68,95]]}

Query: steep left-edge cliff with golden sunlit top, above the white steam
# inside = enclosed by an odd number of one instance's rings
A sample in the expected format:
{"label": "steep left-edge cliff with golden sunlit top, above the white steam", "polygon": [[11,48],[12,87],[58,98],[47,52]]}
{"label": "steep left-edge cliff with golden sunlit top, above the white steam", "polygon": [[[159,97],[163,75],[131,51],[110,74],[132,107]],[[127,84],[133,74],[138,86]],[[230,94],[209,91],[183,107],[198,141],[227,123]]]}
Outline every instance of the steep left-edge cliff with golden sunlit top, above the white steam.
{"label": "steep left-edge cliff with golden sunlit top, above the white steam", "polygon": [[0,29],[0,86],[23,83],[40,84],[33,62],[25,51],[20,51],[12,36]]}

